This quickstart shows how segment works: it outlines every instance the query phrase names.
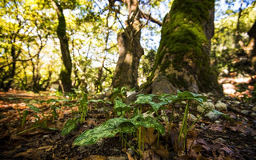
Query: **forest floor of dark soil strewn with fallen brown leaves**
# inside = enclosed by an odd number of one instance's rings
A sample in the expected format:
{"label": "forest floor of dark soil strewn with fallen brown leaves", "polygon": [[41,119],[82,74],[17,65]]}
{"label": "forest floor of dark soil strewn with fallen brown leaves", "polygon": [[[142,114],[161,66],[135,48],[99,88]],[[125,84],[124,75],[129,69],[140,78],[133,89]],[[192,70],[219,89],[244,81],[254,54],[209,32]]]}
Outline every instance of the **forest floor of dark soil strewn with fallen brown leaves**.
{"label": "forest floor of dark soil strewn with fallen brown leaves", "polygon": [[[84,130],[106,121],[105,114],[97,110],[95,104],[89,104],[86,121],[70,134],[61,136],[66,120],[72,118],[78,108],[70,107],[70,103],[75,104],[75,101],[55,104],[58,106],[58,116],[52,120],[51,107],[46,102],[36,102],[50,98],[57,97],[49,96],[48,93],[33,94],[19,90],[0,92],[0,159],[138,159],[136,154],[122,146],[118,135],[103,138],[90,146],[73,146],[74,138]],[[217,102],[215,98],[210,99]],[[256,159],[256,104],[230,97],[221,100],[227,104],[225,114],[232,120],[223,117],[215,121],[200,119],[187,135],[186,152],[178,156],[174,151],[175,137],[177,138],[182,122],[180,115],[184,112],[182,106],[179,106],[181,109],[176,110],[177,117],[170,134],[160,137],[160,149],[153,143],[146,145],[142,153],[143,159]],[[27,106],[28,102],[38,103],[37,107],[43,111],[44,116],[39,113],[34,116],[34,112]],[[109,106],[111,107],[113,108]],[[28,110],[28,116],[26,124],[22,126],[24,110]],[[196,115],[197,110],[191,109],[190,113]],[[46,130],[35,124],[46,124],[48,129],[54,127],[56,130]],[[134,138],[128,139],[129,142],[136,143]]]}

